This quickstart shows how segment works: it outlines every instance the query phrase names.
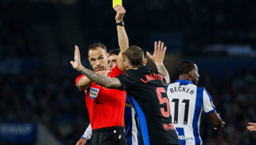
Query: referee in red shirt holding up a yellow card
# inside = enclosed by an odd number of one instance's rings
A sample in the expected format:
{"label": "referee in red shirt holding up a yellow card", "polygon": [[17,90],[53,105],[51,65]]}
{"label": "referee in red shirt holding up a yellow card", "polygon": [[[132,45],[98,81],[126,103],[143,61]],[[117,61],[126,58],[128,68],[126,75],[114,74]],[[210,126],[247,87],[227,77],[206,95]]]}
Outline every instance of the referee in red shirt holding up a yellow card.
{"label": "referee in red shirt holding up a yellow card", "polygon": [[[94,71],[110,78],[122,74],[126,69],[124,65],[125,51],[129,46],[128,37],[125,32],[122,18],[125,15],[125,9],[122,6],[115,6],[117,12],[115,21],[118,29],[118,43],[120,53],[118,55],[117,66],[110,73],[108,69],[106,46],[101,43],[95,43],[89,46],[88,60]],[[78,46],[75,46],[78,50]],[[80,53],[76,52],[80,58]],[[90,125],[93,129],[91,137],[92,144],[126,144],[124,131],[124,112],[126,93],[118,89],[107,89],[94,83],[86,76],[81,75],[76,79],[76,85],[81,91],[86,92],[86,107],[90,117]],[[77,144],[85,144],[86,139],[79,139]]]}

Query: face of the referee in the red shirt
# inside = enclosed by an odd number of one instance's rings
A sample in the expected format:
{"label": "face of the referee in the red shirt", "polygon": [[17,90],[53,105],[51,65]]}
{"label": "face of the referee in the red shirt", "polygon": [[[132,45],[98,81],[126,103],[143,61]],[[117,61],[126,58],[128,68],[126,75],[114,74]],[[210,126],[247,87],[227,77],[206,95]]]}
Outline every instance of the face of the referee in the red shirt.
{"label": "face of the referee in the red shirt", "polygon": [[101,47],[97,47],[97,49],[90,50],[88,56],[90,65],[92,65],[95,71],[103,71],[108,69],[106,51],[104,51],[104,49],[102,49]]}

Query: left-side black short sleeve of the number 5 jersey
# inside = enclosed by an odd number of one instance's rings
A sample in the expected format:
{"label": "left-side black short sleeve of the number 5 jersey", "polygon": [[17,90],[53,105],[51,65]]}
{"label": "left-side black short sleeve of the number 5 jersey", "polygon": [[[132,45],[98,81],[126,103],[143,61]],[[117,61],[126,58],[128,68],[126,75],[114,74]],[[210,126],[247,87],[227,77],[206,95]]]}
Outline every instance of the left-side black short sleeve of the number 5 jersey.
{"label": "left-side black short sleeve of the number 5 jersey", "polygon": [[122,84],[122,88],[120,88],[120,90],[126,90],[131,87],[136,87],[136,74],[132,70],[127,70],[116,78],[118,78],[118,80],[120,80]]}

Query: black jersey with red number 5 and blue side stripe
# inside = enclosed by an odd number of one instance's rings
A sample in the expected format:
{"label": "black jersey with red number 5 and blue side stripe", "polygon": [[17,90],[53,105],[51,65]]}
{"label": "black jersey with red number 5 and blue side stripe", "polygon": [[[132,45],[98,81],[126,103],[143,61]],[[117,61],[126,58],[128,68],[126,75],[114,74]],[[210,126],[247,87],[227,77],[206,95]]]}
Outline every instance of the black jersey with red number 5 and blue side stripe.
{"label": "black jersey with red number 5 and blue side stripe", "polygon": [[138,114],[140,144],[179,144],[170,116],[166,80],[148,67],[117,76]]}

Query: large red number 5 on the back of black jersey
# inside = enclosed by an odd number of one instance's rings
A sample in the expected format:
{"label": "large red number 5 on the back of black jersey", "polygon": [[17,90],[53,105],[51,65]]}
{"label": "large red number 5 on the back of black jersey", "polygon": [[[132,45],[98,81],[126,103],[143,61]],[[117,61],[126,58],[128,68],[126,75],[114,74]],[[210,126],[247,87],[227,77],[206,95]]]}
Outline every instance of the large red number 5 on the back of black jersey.
{"label": "large red number 5 on the back of black jersey", "polygon": [[159,99],[159,103],[163,104],[166,103],[167,110],[165,111],[164,108],[161,108],[161,113],[163,114],[163,117],[170,117],[170,104],[167,97],[163,97],[161,93],[166,93],[166,90],[163,87],[157,87],[157,96]]}

